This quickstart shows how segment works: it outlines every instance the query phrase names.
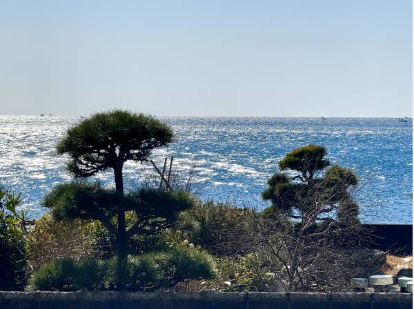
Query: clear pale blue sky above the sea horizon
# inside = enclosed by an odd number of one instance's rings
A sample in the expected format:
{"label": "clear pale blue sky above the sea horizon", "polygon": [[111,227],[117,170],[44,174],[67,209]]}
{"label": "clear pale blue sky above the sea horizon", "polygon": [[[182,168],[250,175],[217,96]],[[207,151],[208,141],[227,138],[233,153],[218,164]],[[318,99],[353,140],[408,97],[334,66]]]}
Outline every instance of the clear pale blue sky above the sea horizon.
{"label": "clear pale blue sky above the sea horizon", "polygon": [[411,13],[410,0],[0,0],[0,114],[410,116]]}

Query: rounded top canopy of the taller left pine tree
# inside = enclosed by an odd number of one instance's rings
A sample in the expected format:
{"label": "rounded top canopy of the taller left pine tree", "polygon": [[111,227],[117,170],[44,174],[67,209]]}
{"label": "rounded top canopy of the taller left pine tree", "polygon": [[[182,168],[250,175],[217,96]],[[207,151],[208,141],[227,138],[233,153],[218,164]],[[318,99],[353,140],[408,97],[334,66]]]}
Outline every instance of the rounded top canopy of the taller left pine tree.
{"label": "rounded top canopy of the taller left pine tree", "polygon": [[116,168],[119,161],[144,161],[153,148],[166,146],[172,137],[172,129],[151,116],[112,110],[70,128],[57,151],[70,155],[68,169],[75,176],[89,177]]}

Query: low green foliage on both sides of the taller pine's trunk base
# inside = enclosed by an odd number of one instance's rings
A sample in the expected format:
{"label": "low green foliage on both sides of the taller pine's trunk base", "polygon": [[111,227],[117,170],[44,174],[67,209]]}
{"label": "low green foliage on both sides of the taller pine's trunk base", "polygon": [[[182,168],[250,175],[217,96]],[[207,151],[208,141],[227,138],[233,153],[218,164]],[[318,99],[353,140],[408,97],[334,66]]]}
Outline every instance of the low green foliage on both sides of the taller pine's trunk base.
{"label": "low green foliage on both sides of the taller pine's trunk base", "polygon": [[[116,257],[101,264],[88,259],[57,259],[34,272],[28,290],[113,290],[119,280],[117,272]],[[123,275],[126,290],[155,290],[186,279],[213,279],[215,266],[206,252],[180,245],[166,251],[129,255]]]}

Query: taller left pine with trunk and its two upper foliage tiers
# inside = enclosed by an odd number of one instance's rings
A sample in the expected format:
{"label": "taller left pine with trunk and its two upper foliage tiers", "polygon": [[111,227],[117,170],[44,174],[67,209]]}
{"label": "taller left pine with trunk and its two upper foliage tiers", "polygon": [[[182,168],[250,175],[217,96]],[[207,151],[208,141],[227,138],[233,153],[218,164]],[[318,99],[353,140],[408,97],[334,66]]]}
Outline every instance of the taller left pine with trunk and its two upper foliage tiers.
{"label": "taller left pine with trunk and its two upper foliage tiers", "polygon": [[[128,257],[128,239],[168,228],[181,210],[195,199],[184,191],[141,188],[124,192],[122,170],[128,160],[143,162],[151,150],[172,142],[172,129],[161,121],[124,110],[99,112],[70,128],[57,146],[68,154],[68,170],[85,179],[112,169],[115,190],[99,183],[75,180],[56,186],[43,204],[57,219],[95,219],[115,236],[118,256],[118,288],[122,287]],[[136,221],[126,226],[126,212],[135,212]]]}

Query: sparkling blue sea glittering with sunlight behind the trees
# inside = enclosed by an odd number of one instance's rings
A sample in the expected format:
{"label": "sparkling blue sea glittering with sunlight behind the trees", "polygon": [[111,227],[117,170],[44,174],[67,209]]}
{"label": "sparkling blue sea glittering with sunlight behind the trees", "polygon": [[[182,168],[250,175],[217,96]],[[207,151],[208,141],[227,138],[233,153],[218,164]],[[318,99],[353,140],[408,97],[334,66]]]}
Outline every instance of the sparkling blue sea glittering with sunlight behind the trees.
{"label": "sparkling blue sea glittering with sunlight behind the trees", "polygon": [[[175,130],[175,143],[155,150],[162,168],[174,157],[181,181],[192,177],[201,199],[264,208],[260,193],[286,152],[308,143],[326,146],[331,163],[355,170],[356,199],[364,223],[411,223],[413,191],[412,121],[394,118],[160,117]],[[0,184],[21,192],[34,217],[57,183],[70,181],[67,157],[55,146],[80,117],[0,116]],[[152,179],[150,163],[127,163],[127,188]],[[112,184],[112,173],[99,177]]]}

